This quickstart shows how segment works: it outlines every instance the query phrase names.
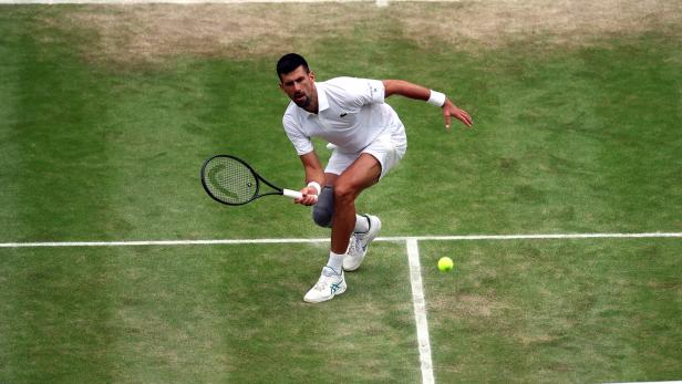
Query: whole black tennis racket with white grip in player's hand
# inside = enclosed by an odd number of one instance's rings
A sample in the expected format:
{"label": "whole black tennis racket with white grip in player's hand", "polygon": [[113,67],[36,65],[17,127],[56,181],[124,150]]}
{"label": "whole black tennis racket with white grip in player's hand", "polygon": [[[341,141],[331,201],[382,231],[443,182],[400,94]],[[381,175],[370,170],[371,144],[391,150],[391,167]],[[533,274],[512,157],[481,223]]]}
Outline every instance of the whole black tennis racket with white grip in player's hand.
{"label": "whole black tennis racket with white grip in player's hand", "polygon": [[[303,197],[298,190],[283,189],[266,180],[245,160],[230,155],[216,155],[204,162],[202,184],[208,196],[228,206],[240,206],[270,195]],[[270,189],[262,191],[264,184]]]}

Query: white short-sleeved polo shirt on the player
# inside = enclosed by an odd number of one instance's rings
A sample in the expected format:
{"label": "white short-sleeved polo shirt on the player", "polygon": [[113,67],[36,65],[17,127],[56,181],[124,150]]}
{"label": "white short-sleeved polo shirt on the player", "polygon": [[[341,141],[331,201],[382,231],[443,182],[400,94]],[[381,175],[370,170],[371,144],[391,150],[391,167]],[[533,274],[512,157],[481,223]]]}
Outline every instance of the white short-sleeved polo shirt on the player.
{"label": "white short-sleeved polo shirt on the player", "polygon": [[290,102],[282,118],[299,156],[313,151],[311,137],[321,137],[342,153],[359,153],[386,129],[404,129],[395,111],[384,103],[379,80],[335,77],[316,82],[316,87],[318,114]]}

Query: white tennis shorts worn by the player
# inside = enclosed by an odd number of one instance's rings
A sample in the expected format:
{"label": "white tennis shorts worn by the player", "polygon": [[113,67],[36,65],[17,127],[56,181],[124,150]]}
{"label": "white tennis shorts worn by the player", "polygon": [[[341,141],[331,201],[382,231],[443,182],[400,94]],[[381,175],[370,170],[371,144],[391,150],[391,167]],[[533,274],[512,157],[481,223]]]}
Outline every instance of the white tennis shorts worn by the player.
{"label": "white tennis shorts worn by the player", "polygon": [[361,154],[370,154],[381,164],[380,178],[383,178],[405,155],[407,136],[405,128],[401,126],[400,129],[384,131],[361,152],[344,153],[337,147],[331,147],[334,148],[334,152],[329,158],[324,173],[341,175]]}

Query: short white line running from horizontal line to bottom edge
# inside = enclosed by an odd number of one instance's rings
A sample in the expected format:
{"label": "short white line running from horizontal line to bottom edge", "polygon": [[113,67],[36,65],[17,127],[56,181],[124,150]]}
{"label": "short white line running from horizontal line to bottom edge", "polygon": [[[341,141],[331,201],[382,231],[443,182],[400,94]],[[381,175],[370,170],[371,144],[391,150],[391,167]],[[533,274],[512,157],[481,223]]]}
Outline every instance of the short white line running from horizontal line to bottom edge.
{"label": "short white line running from horizontal line to bottom edge", "polygon": [[428,322],[426,321],[426,300],[422,286],[422,268],[420,249],[416,239],[407,241],[407,259],[410,260],[410,283],[412,284],[412,302],[414,303],[414,320],[416,322],[416,340],[420,344],[420,365],[422,383],[433,384],[433,363],[431,361],[431,343],[428,342]]}

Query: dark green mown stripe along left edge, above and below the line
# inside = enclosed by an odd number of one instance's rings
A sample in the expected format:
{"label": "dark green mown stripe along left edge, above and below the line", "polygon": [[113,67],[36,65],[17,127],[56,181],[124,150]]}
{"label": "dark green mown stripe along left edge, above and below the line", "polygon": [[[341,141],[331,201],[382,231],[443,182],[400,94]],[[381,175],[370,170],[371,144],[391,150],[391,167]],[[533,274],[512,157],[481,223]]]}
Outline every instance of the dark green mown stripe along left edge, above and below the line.
{"label": "dark green mown stripe along left edge, above and below the line", "polygon": [[[3,65],[0,71],[6,79],[7,68],[10,86],[19,85],[8,97],[11,102],[2,103],[11,118],[0,123],[16,155],[2,164],[9,172],[0,173],[11,198],[9,204],[2,198],[2,236],[59,238],[71,230],[87,236],[89,224],[82,218],[104,217],[87,188],[102,172],[102,147],[92,129],[97,124],[101,87],[90,68],[65,46],[63,35],[53,35],[53,45],[45,49],[41,39],[51,30],[33,12],[27,8],[2,11],[2,39],[8,42],[2,45],[11,51],[17,66]],[[80,173],[89,177],[83,179]],[[81,264],[83,253],[78,252],[72,261],[80,267],[72,268],[50,253],[30,261],[13,251],[2,253],[0,319],[6,342],[0,350],[0,381],[35,377],[40,382],[60,374],[78,381],[81,364],[93,367],[89,373],[93,381],[107,381],[111,366],[103,354],[112,342],[104,325],[111,315],[110,295],[100,289],[107,260],[93,258]],[[78,357],[71,360],[72,353]]]}

